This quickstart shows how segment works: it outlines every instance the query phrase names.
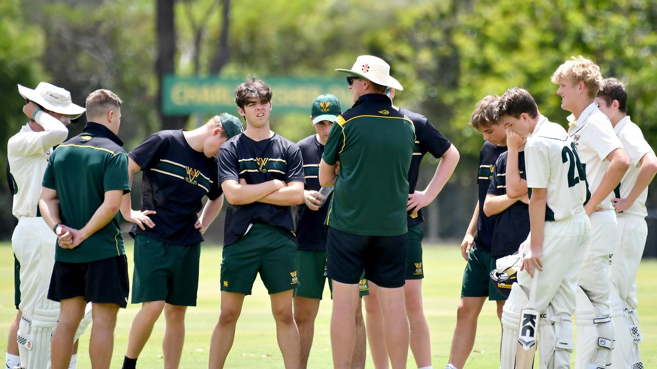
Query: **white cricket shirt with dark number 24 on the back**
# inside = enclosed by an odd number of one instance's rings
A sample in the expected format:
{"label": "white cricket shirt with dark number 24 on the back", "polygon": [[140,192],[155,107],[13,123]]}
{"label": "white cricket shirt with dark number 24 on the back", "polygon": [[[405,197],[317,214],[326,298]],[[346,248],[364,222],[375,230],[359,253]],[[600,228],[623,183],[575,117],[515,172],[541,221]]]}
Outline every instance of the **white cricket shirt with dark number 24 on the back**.
{"label": "white cricket shirt with dark number 24 on the back", "polygon": [[576,158],[566,130],[539,116],[525,144],[525,169],[528,188],[547,189],[546,221],[584,213],[586,184],[578,178]]}

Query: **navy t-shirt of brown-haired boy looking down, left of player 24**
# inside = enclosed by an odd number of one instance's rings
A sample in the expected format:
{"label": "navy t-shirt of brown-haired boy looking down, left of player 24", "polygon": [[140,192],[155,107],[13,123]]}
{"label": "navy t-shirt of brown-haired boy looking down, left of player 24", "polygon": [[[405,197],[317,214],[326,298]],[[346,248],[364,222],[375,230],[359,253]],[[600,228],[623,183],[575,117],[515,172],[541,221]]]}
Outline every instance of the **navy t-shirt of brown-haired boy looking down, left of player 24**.
{"label": "navy t-shirt of brown-haired boy looking down, left of player 24", "polygon": [[500,154],[507,151],[507,146],[495,146],[490,142],[484,142],[482,151],[479,154],[479,171],[477,173],[477,185],[479,186],[479,216],[477,219],[477,233],[474,235],[474,246],[478,250],[490,252],[493,242],[493,230],[495,229],[495,220],[497,215],[487,217],[484,214],[484,202],[488,187],[493,179],[495,162]]}

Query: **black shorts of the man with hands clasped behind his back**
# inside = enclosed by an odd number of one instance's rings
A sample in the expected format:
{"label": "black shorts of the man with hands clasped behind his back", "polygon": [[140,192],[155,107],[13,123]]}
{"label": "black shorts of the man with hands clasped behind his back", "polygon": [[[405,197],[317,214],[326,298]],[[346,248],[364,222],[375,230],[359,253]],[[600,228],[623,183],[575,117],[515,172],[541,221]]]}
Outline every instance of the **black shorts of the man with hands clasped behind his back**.
{"label": "black shorts of the man with hands clasped behind his back", "polygon": [[108,257],[87,263],[55,261],[48,299],[61,301],[82,296],[91,303],[127,306],[127,257]]}

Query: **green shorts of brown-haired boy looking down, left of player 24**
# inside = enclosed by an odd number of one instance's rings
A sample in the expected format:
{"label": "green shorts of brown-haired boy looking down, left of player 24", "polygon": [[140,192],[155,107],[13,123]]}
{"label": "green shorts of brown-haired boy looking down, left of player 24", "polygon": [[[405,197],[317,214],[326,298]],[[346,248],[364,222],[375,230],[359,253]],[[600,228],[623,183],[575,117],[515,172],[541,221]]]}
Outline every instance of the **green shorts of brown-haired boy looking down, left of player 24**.
{"label": "green shorts of brown-haired boy looking down, left of player 24", "polygon": [[490,273],[493,269],[495,269],[495,259],[491,258],[491,254],[473,246],[463,272],[461,297],[488,297],[490,301],[505,300],[506,297],[495,290],[491,281]]}

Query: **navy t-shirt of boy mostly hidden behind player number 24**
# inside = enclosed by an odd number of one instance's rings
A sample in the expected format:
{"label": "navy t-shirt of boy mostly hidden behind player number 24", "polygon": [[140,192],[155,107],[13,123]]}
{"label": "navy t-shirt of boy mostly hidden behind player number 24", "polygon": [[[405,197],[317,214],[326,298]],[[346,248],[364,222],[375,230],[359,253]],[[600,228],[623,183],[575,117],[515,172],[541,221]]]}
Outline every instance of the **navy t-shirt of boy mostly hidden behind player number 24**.
{"label": "navy t-shirt of boy mostly hidden behind player number 24", "polygon": [[[489,194],[496,196],[507,194],[507,157],[508,152],[503,152],[495,163],[493,179],[488,188]],[[527,180],[524,151],[518,153],[518,171],[520,178]],[[518,246],[527,239],[529,233],[530,207],[522,201],[516,201],[505,211],[497,214],[491,256],[506,256],[518,251]]]}

